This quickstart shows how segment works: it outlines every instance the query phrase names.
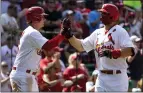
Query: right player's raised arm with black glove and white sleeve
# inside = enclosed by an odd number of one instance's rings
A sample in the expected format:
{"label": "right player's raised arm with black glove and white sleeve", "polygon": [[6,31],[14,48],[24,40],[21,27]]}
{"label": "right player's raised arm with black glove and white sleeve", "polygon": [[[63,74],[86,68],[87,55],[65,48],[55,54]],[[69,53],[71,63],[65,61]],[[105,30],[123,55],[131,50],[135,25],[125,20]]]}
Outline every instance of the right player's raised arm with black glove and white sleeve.
{"label": "right player's raised arm with black glove and white sleeve", "polygon": [[94,41],[96,37],[96,33],[92,33],[89,37],[86,39],[77,39],[72,31],[71,31],[71,25],[70,20],[67,18],[64,20],[65,24],[63,24],[63,31],[61,32],[62,35],[65,36],[65,38],[68,39],[70,44],[77,49],[79,52],[86,51],[89,52],[90,50],[94,49]]}

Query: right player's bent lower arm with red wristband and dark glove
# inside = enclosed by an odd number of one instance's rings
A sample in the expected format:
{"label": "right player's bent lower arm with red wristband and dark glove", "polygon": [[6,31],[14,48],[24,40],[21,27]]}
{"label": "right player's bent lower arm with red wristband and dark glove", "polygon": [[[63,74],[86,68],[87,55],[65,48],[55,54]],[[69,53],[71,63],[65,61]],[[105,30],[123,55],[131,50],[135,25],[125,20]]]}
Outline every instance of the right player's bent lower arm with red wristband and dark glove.
{"label": "right player's bent lower arm with red wristband and dark glove", "polygon": [[[121,29],[123,30],[123,29]],[[104,50],[99,53],[100,57],[106,56],[108,58],[126,58],[128,56],[135,55],[135,49],[133,44],[130,40],[130,37],[126,31],[120,31],[119,37],[122,36],[123,38],[119,38],[119,44],[121,48],[113,49],[113,50]]]}

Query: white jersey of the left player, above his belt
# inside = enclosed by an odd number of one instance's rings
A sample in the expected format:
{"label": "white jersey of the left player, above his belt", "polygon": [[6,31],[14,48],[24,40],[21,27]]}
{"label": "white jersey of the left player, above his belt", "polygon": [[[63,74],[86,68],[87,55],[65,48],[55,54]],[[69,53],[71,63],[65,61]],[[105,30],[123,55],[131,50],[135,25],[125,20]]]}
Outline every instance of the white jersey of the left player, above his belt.
{"label": "white jersey of the left player, above his belt", "polygon": [[14,67],[36,71],[39,66],[41,47],[47,42],[47,39],[32,26],[27,27],[21,36],[19,52],[14,62]]}

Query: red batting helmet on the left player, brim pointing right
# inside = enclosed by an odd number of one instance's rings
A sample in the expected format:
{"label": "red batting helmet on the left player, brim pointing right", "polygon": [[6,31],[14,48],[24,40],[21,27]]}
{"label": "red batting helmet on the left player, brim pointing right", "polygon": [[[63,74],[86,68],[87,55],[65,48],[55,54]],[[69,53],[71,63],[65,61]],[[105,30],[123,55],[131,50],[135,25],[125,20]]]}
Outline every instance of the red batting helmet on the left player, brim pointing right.
{"label": "red batting helmet on the left player, brim pointing right", "polygon": [[26,20],[28,23],[32,21],[41,21],[42,17],[47,15],[48,14],[44,12],[44,9],[42,7],[34,6],[27,10]]}

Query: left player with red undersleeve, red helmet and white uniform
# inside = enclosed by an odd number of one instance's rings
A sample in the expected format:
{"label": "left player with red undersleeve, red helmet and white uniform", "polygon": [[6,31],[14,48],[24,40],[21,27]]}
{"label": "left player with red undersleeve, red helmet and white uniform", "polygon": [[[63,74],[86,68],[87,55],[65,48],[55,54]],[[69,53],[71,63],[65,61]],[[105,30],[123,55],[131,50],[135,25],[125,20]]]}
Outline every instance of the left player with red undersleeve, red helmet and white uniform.
{"label": "left player with red undersleeve, red helmet and white uniform", "polygon": [[20,38],[19,52],[10,74],[12,89],[15,92],[38,91],[34,75],[38,69],[41,52],[49,51],[64,39],[62,34],[58,34],[51,40],[47,40],[40,34],[39,30],[44,26],[45,16],[47,14],[44,13],[44,9],[38,6],[31,7],[26,12],[29,26]]}

